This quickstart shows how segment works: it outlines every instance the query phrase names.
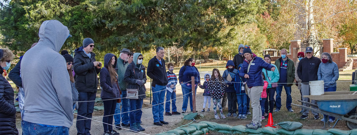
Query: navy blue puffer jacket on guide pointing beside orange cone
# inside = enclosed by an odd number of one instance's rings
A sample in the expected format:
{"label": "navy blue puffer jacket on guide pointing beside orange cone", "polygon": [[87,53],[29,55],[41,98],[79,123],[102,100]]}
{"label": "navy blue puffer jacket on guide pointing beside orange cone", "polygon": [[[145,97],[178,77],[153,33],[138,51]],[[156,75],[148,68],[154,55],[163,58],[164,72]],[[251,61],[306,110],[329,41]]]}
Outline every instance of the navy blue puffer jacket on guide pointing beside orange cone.
{"label": "navy blue puffer jacket on guide pointing beside orange cone", "polygon": [[241,67],[241,70],[239,70],[239,76],[244,78],[245,74],[249,75],[249,78],[247,78],[247,86],[248,87],[253,87],[253,86],[263,86],[264,81],[263,81],[263,76],[262,76],[262,69],[266,69],[270,71],[273,65],[265,62],[261,57],[253,55],[253,60],[249,72],[247,73],[248,65],[249,62],[244,59],[243,61],[243,67]]}

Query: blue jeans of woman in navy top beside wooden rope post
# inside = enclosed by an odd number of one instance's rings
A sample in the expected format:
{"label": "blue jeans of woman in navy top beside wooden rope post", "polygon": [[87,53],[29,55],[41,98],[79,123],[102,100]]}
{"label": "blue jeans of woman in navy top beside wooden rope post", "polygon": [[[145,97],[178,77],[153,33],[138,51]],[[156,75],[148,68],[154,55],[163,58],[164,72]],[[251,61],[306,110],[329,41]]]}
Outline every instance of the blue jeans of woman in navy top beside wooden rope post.
{"label": "blue jeans of woman in navy top beside wooden rope post", "polygon": [[[188,99],[190,99],[190,109],[191,109],[191,111],[193,111],[192,85],[187,86],[187,84],[183,84],[183,85],[181,85],[181,88],[182,88],[182,95],[185,95],[185,96],[183,96],[182,111],[187,110]],[[190,93],[190,94],[187,94],[187,93]],[[197,93],[197,86],[195,87],[195,95],[196,95],[196,93]]]}

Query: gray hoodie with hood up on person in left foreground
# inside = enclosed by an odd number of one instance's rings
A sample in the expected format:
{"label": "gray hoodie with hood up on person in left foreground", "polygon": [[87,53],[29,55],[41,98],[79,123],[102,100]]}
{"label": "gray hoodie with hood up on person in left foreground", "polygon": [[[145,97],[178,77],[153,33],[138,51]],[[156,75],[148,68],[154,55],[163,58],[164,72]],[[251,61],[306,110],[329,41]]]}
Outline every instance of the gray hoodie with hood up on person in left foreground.
{"label": "gray hoodie with hood up on person in left foreground", "polygon": [[20,67],[25,91],[23,120],[71,127],[72,89],[66,60],[58,53],[68,36],[68,28],[59,21],[44,21],[38,44],[24,54]]}

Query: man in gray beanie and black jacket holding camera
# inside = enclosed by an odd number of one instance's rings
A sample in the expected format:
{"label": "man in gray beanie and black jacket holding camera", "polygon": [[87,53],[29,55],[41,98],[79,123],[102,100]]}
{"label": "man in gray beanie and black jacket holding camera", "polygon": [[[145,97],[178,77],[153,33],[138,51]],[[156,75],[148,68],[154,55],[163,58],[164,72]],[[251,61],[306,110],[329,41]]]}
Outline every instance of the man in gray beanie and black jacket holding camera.
{"label": "man in gray beanie and black jacket holding camera", "polygon": [[[77,48],[74,54],[74,72],[76,88],[79,92],[77,116],[77,135],[90,135],[91,119],[94,109],[94,100],[97,92],[98,77],[101,62],[95,60],[95,54],[92,53],[94,41],[90,38],[83,40],[83,46]],[[81,117],[84,116],[84,117]],[[86,120],[81,120],[86,119]]]}

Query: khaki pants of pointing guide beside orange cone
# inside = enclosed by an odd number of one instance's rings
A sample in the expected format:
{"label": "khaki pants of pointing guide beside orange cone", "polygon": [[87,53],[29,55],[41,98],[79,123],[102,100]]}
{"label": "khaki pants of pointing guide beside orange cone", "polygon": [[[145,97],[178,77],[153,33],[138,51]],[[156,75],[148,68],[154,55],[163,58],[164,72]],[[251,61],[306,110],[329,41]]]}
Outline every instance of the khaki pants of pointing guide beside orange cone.
{"label": "khaki pants of pointing guide beside orange cone", "polygon": [[254,86],[252,88],[248,88],[247,90],[247,95],[249,96],[250,101],[252,102],[252,108],[253,108],[252,122],[254,124],[262,122],[262,109],[259,101],[262,92],[263,92],[263,86]]}

